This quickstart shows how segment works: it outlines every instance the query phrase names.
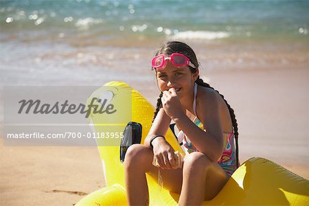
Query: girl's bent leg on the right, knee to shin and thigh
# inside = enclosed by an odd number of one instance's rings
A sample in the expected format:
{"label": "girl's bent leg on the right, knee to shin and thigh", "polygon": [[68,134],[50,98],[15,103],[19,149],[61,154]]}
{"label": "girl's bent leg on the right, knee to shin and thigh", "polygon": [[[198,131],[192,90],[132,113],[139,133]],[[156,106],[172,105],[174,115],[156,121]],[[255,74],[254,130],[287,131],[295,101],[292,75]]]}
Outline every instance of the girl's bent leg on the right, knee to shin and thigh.
{"label": "girl's bent leg on the right, knee to shin and thigh", "polygon": [[186,155],[179,205],[202,205],[214,198],[227,183],[229,176],[202,152]]}

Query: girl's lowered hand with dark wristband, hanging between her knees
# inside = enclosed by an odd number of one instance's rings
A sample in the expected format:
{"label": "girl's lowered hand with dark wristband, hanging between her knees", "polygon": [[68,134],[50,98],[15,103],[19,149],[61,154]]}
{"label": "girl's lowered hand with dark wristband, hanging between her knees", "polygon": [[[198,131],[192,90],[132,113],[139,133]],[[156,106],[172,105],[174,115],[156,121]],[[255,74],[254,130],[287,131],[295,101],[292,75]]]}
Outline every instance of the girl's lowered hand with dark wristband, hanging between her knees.
{"label": "girl's lowered hand with dark wristband, hanging between her knees", "polygon": [[152,141],[153,146],[153,161],[155,166],[159,165],[161,169],[176,169],[176,159],[174,156],[174,149],[168,141],[158,137]]}

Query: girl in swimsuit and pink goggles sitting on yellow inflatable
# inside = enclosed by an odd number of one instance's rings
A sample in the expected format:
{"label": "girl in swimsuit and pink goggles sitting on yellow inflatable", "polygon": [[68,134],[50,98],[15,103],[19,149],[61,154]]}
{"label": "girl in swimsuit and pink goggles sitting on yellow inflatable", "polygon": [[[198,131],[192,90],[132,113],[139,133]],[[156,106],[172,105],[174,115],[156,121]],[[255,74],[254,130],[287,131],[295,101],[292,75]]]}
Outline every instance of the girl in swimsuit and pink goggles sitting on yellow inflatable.
{"label": "girl in swimsuit and pink goggles sitting on yellow inflatable", "polygon": [[[152,59],[152,69],[161,94],[144,145],[134,144],[126,152],[128,205],[148,205],[145,173],[157,179],[159,169],[164,187],[180,194],[179,205],[201,205],[214,198],[238,168],[233,109],[199,78],[198,60],[185,43],[165,43]],[[171,120],[181,130],[178,138],[187,154],[181,168],[176,167],[174,149],[164,137]]]}

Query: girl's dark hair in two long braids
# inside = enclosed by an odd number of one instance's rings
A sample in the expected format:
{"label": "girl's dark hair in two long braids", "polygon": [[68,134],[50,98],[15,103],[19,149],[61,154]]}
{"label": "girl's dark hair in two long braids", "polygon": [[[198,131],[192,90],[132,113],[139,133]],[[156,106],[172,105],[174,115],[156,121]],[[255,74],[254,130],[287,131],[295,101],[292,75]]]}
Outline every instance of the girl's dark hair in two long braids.
{"label": "girl's dark hair in two long braids", "polygon": [[[195,66],[191,67],[188,66],[190,68],[190,71],[192,73],[196,73],[196,71],[198,70],[198,60],[196,58],[196,54],[194,53],[193,49],[185,44],[185,43],[181,43],[179,41],[169,41],[167,43],[165,43],[155,54],[155,56],[159,55],[159,54],[165,54],[165,55],[172,55],[173,53],[179,53],[179,54],[183,54],[185,56],[187,56],[188,58],[190,58],[190,62],[192,62],[192,64]],[[156,70],[157,73],[157,70]],[[202,86],[202,87],[207,87],[210,89],[214,89],[213,87],[210,87],[209,84],[207,84],[206,82],[204,82],[200,76],[198,76],[198,78],[196,79],[196,84]],[[218,92],[217,90],[214,89],[214,91]],[[218,94],[221,96],[221,98],[223,100],[225,100],[225,97],[223,95],[221,95],[219,92]],[[159,95],[159,98],[157,99],[157,106],[155,109],[155,114],[154,117],[152,119],[152,122],[155,120],[155,117],[157,117],[157,114],[159,113],[160,108],[162,107],[162,102],[161,102],[161,98],[162,98],[163,93],[161,92]],[[231,106],[229,105],[229,103],[227,103],[227,100],[225,100],[225,104],[227,104],[227,108],[229,108],[229,115],[231,116],[231,121],[233,124],[233,134],[236,140],[236,166],[239,167],[239,159],[238,159],[238,123],[236,120],[236,116],[234,113],[233,108],[231,108]]]}

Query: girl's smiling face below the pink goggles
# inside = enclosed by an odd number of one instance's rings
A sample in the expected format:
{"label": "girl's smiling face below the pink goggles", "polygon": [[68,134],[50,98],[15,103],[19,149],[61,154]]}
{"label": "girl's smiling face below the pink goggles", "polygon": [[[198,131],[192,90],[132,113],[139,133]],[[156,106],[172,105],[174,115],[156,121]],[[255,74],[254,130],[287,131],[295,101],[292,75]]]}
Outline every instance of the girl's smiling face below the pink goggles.
{"label": "girl's smiling face below the pink goggles", "polygon": [[197,77],[198,72],[192,73],[188,66],[176,67],[170,61],[165,64],[165,67],[157,69],[159,89],[167,91],[174,88],[180,100],[190,97]]}

